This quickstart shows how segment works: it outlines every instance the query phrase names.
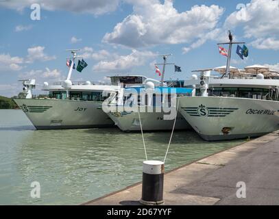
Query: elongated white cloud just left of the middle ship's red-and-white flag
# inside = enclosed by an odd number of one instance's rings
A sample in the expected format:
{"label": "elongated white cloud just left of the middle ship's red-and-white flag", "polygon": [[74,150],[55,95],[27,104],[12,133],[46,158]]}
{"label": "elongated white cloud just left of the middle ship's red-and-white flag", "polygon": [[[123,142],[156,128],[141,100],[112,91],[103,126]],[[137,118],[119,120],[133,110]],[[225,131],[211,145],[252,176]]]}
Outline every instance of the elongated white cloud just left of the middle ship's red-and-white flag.
{"label": "elongated white cloud just left of the middle ship's red-and-white flag", "polygon": [[151,51],[133,50],[129,55],[120,55],[116,60],[100,61],[93,66],[93,70],[99,72],[129,70],[134,66],[143,66],[147,60],[154,58],[155,55]]}

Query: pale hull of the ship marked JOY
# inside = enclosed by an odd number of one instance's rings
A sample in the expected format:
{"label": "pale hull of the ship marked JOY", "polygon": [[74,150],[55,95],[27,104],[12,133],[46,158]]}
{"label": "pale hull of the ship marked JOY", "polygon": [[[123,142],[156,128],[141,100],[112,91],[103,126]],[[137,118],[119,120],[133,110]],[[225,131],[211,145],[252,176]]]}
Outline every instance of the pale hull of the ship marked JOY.
{"label": "pale hull of the ship marked JOY", "polygon": [[36,129],[113,127],[101,102],[59,99],[14,99]]}

